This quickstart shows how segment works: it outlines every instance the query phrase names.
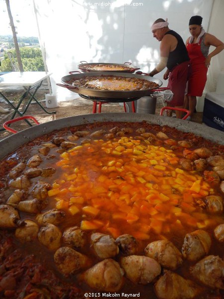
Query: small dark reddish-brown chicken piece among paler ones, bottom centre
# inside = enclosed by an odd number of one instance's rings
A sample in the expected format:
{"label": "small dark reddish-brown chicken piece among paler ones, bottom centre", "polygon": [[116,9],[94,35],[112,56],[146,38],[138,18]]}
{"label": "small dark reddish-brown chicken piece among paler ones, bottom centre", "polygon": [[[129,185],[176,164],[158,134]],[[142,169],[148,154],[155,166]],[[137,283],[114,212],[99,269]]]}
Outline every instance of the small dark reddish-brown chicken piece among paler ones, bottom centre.
{"label": "small dark reddish-brown chicken piece among paler ones, bottom centre", "polygon": [[138,249],[137,240],[128,234],[124,234],[116,238],[116,245],[119,247],[119,251],[125,255],[133,255]]}

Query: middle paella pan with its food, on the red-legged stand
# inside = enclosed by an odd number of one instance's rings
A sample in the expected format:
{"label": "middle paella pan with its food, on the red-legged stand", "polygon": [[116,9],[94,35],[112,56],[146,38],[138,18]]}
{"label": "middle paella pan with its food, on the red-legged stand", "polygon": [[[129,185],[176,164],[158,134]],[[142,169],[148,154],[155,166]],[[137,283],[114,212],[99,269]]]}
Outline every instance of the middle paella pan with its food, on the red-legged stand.
{"label": "middle paella pan with its food, on the red-legged stand", "polygon": [[117,98],[140,98],[150,95],[162,85],[161,80],[150,76],[111,72],[67,75],[62,77],[61,81],[64,84],[57,85],[81,95],[108,98],[111,102]]}

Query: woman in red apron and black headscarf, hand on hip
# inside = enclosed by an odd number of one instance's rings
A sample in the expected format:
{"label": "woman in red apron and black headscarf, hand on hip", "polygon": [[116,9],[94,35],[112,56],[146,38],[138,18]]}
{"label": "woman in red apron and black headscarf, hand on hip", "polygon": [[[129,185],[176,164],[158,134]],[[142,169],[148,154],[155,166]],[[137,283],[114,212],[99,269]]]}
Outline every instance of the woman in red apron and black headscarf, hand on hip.
{"label": "woman in red apron and black headscarf, hand on hip", "polygon": [[[224,43],[214,35],[206,33],[202,27],[202,17],[194,15],[189,21],[191,36],[186,41],[188,55],[191,60],[191,74],[185,96],[184,108],[190,110],[190,117],[195,111],[197,98],[201,97],[207,80],[207,71],[211,58],[224,49]],[[216,49],[209,54],[209,47]]]}

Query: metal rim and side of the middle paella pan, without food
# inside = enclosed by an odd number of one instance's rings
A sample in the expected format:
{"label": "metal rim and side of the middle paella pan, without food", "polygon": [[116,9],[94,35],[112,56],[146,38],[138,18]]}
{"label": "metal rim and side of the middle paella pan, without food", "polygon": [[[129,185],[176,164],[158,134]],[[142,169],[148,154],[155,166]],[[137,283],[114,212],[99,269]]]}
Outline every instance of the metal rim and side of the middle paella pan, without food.
{"label": "metal rim and side of the middle paella pan, without food", "polygon": [[143,96],[148,96],[152,94],[155,89],[147,89],[147,90],[132,90],[132,91],[125,91],[125,90],[97,90],[94,88],[85,88],[85,87],[75,87],[71,83],[71,81],[79,80],[82,78],[92,78],[92,77],[102,77],[102,76],[111,76],[114,78],[131,78],[131,79],[143,79],[148,82],[152,82],[157,84],[156,90],[160,90],[159,87],[162,85],[162,81],[156,78],[152,78],[150,76],[142,76],[137,74],[129,74],[129,73],[122,73],[120,75],[119,73],[112,73],[112,72],[99,72],[99,73],[89,73],[88,75],[86,73],[81,74],[73,74],[73,75],[67,75],[62,77],[61,81],[63,84],[57,84],[61,87],[65,87],[70,91],[73,91],[75,93],[90,96],[90,97],[96,97],[96,98],[108,98],[111,100],[111,102],[116,101],[115,99],[128,99],[128,98],[140,98]]}

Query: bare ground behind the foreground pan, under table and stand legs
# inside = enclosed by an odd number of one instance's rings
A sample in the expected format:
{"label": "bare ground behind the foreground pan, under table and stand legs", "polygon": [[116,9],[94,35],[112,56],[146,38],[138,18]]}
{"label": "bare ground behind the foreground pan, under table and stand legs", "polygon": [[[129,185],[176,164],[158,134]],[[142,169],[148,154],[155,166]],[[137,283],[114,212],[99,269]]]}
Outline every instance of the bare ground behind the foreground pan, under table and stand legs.
{"label": "bare ground behind the foreground pan, under table and stand legs", "polygon": [[[19,93],[21,94],[21,90],[18,91],[9,91],[7,93],[7,98],[11,99],[13,101],[13,97],[15,97],[15,94]],[[41,89],[38,91],[37,98],[41,101],[41,104],[46,107],[45,105],[45,94],[49,93],[47,89]],[[76,116],[76,115],[83,115],[83,114],[90,114],[93,111],[93,102],[89,100],[85,100],[83,98],[78,98],[72,101],[65,101],[60,102],[60,99],[58,99],[58,107],[54,109],[48,109],[47,111],[56,111],[55,115],[49,115],[46,114],[35,102],[31,104],[26,112],[26,115],[32,115],[34,116],[39,123],[45,123],[49,122],[54,119],[61,119],[69,116]],[[24,101],[25,105],[25,101]],[[23,106],[24,106],[23,105]],[[9,108],[9,105],[5,102],[0,100],[0,107],[2,108]],[[156,104],[156,114],[159,115],[160,109],[163,107],[162,102],[157,100]],[[22,109],[21,109],[22,110]],[[124,112],[123,106],[120,106],[119,103],[111,103],[111,104],[103,104],[102,105],[102,112],[105,113],[112,113],[112,112]],[[0,113],[0,126],[4,122],[10,119],[11,113],[2,114]],[[202,113],[195,113],[193,117],[193,121],[197,123],[202,123]],[[29,126],[24,122],[20,121],[19,123],[11,125],[11,127],[17,131],[24,130],[26,128],[29,128]],[[0,132],[0,140],[12,135],[12,133],[8,131]]]}

